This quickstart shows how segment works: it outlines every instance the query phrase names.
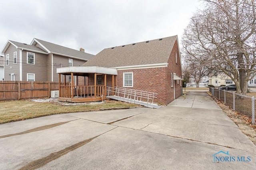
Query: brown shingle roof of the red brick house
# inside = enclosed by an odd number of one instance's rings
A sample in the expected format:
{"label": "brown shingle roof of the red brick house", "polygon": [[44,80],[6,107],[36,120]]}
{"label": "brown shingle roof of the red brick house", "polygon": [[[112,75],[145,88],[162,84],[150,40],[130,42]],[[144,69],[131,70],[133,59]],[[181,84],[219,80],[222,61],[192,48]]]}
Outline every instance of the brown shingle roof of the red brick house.
{"label": "brown shingle roof of the red brick house", "polygon": [[167,63],[177,35],[102,50],[82,66],[118,67]]}

